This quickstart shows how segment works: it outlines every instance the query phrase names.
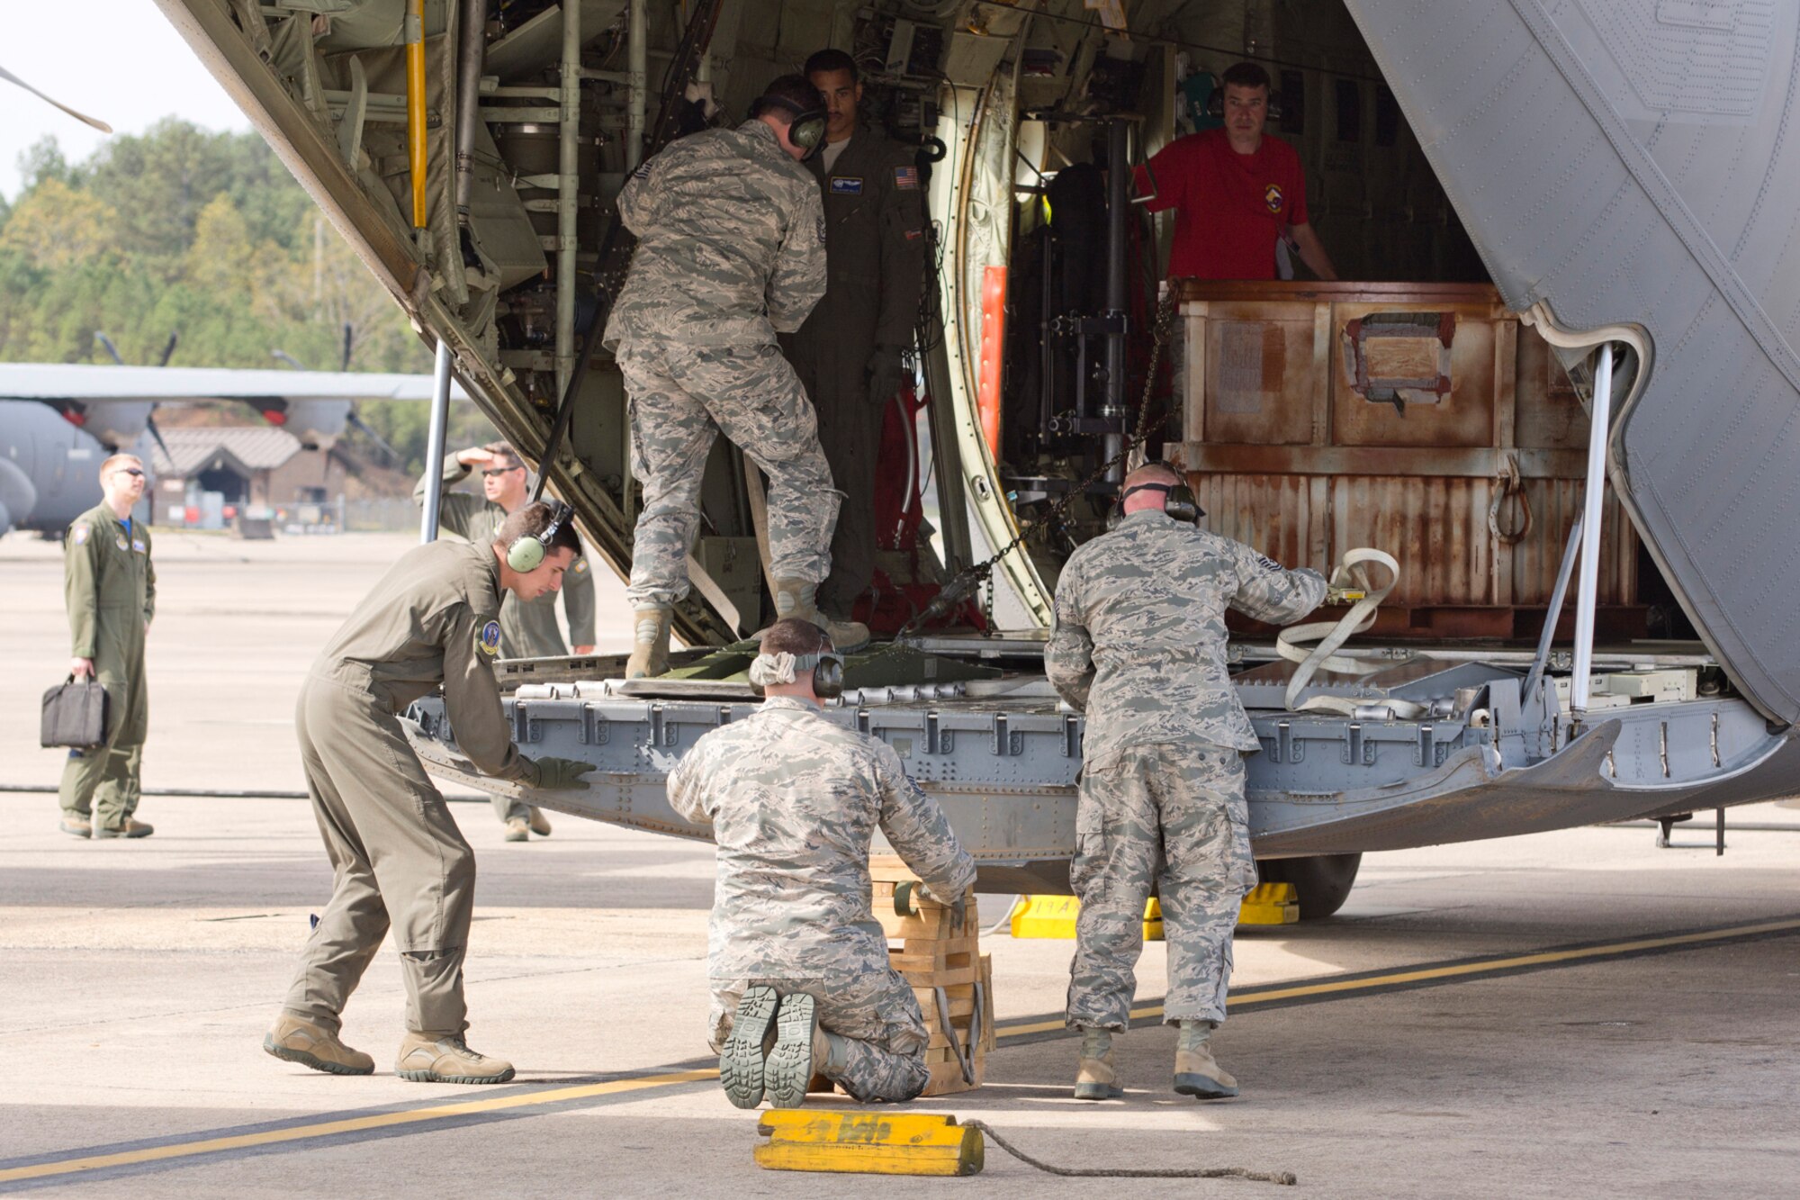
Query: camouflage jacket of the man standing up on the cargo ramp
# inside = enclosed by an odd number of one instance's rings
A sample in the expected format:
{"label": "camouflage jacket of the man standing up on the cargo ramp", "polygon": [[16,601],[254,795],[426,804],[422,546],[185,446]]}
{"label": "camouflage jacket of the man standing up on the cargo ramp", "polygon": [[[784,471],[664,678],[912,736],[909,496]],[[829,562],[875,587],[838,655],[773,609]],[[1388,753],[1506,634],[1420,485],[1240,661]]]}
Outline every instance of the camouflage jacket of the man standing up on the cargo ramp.
{"label": "camouflage jacket of the man standing up on the cargo ramp", "polygon": [[765,346],[824,295],[819,184],[761,121],[691,133],[619,193],[637,234],[607,323],[607,350],[635,337]]}

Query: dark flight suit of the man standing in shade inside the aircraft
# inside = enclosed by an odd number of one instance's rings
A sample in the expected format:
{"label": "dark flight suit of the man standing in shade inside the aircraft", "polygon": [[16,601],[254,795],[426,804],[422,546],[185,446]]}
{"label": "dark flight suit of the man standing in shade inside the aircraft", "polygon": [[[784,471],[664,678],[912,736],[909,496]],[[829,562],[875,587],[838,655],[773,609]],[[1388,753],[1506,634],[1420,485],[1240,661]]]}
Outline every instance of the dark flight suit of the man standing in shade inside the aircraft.
{"label": "dark flight suit of the man standing in shade inside the aircraft", "polygon": [[869,402],[877,346],[913,346],[925,279],[925,193],[914,150],[857,130],[824,169],[806,164],[824,198],[824,299],[787,342],[819,413],[819,445],[844,492],[832,537],[832,575],[819,607],[848,618],[875,575],[875,476],[887,396]]}

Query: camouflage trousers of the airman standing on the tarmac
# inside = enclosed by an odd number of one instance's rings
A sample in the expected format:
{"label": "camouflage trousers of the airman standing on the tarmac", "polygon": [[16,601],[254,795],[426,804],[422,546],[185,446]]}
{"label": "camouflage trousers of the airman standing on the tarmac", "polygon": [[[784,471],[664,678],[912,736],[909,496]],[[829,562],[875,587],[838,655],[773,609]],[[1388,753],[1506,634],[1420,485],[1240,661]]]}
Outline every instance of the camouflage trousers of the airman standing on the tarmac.
{"label": "camouflage trousers of the airman standing on the tarmac", "polygon": [[1256,885],[1244,759],[1220,746],[1129,746],[1084,768],[1069,885],[1082,901],[1071,1027],[1125,1029],[1150,886],[1163,903],[1163,1020],[1222,1022],[1238,903]]}

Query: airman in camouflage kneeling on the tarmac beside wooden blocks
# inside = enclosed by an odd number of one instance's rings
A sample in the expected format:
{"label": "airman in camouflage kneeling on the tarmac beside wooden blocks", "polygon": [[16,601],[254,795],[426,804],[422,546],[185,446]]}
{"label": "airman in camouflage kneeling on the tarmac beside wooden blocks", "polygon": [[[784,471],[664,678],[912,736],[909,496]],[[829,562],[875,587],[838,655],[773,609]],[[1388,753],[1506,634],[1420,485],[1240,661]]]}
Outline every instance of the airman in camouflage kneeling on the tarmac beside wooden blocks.
{"label": "airman in camouflage kneeling on the tarmac beside wooden blocks", "polygon": [[[776,622],[758,663],[806,627]],[[810,638],[817,645],[817,632]],[[779,996],[781,1040],[767,1065],[770,1097],[787,1088],[779,1105],[799,1103],[815,1068],[859,1101],[913,1099],[929,1081],[929,1034],[869,910],[869,841],[878,829],[943,899],[963,897],[976,879],[974,859],[891,746],[819,714],[805,659],[797,683],[770,683],[767,695],[749,717],[695,742],[668,780],[675,811],[711,823],[718,843],[707,1034],[715,1050],[727,1050],[722,1081],[733,1103],[761,1101],[760,1049]],[[763,1025],[738,1029],[754,1047],[745,1079],[745,1065],[727,1061],[727,1041],[745,1020],[740,1004],[751,1007],[758,993],[769,998],[758,1014]],[[794,1031],[781,1081],[790,1009],[815,1013],[817,1027]]]}

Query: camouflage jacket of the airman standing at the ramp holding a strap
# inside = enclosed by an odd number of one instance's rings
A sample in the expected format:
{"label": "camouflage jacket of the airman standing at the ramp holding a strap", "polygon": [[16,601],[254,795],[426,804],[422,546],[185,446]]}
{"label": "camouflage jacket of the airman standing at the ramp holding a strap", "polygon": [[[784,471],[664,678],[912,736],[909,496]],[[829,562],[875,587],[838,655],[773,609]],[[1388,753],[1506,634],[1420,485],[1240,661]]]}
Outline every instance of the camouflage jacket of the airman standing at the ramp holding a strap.
{"label": "camouflage jacket of the airman standing at the ramp holding a strap", "polygon": [[1323,598],[1318,571],[1287,571],[1154,508],[1076,550],[1057,582],[1044,672],[1087,710],[1084,764],[1127,746],[1256,750],[1226,674],[1226,609],[1285,625]]}

